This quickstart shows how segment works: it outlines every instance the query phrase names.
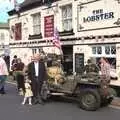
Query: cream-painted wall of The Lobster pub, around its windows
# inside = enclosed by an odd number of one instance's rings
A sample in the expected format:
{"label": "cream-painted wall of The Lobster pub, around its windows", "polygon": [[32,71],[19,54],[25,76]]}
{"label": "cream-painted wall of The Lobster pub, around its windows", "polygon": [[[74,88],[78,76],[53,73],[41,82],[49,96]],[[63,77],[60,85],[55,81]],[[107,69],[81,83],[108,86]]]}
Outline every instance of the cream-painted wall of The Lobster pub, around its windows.
{"label": "cream-painted wall of The Lobster pub, around its windows", "polygon": [[[10,39],[10,43],[18,43],[16,45],[10,45],[11,57],[17,55],[27,64],[30,56],[32,56],[32,49],[34,48],[38,51],[42,48],[45,53],[59,54],[59,50],[53,47],[51,42],[39,43],[38,41],[53,39],[52,37],[44,37],[45,16],[54,15],[54,25],[57,26],[60,32],[62,31],[61,9],[62,6],[69,4],[72,5],[72,27],[74,35],[61,36],[60,38],[75,38],[72,42],[69,40],[61,41],[62,45],[73,45],[73,71],[75,71],[75,53],[84,53],[85,63],[87,59],[91,57],[115,58],[116,72],[120,77],[120,37],[103,37],[106,35],[112,36],[114,34],[120,34],[120,3],[117,0],[61,0],[53,3],[51,8],[48,8],[48,6],[40,6],[20,13],[20,17],[17,15],[10,16],[10,27],[15,23],[22,23],[22,40],[15,41],[14,38]],[[41,34],[43,37],[41,39],[28,40],[29,34],[33,35],[32,15],[39,12],[41,14]],[[101,16],[99,18],[91,18],[91,16],[96,15]],[[85,37],[88,37],[88,39],[85,39]],[[33,41],[36,41],[36,43],[30,44],[30,42]],[[19,44],[20,42],[27,42],[27,44]],[[92,53],[93,47],[96,46],[102,47],[103,52],[101,54]],[[115,54],[106,54],[105,46],[115,46]]]}

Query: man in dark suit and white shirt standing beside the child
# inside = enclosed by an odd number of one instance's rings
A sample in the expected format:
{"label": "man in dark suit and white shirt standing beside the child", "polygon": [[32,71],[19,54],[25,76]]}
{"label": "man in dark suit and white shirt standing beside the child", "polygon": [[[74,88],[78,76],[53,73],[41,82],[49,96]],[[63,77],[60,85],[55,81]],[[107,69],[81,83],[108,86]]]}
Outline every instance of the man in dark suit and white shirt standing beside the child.
{"label": "man in dark suit and white shirt standing beside the child", "polygon": [[28,77],[31,80],[31,86],[33,91],[33,102],[42,104],[41,99],[41,87],[44,81],[46,81],[46,68],[42,60],[40,60],[40,54],[35,54],[33,60],[28,64]]}

